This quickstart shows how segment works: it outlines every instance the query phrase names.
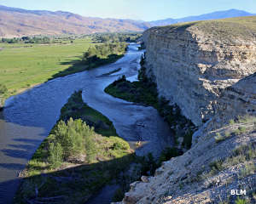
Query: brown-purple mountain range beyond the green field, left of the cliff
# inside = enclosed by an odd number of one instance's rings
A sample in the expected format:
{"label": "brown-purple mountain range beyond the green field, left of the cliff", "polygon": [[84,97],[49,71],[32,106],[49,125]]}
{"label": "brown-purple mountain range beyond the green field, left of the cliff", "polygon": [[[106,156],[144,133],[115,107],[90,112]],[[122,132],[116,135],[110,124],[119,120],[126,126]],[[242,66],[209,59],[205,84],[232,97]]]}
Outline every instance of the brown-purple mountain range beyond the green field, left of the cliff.
{"label": "brown-purple mountain range beyond the green field, left of the cliff", "polygon": [[149,26],[147,22],[136,20],[90,18],[64,11],[26,10],[0,5],[0,37],[144,31]]}

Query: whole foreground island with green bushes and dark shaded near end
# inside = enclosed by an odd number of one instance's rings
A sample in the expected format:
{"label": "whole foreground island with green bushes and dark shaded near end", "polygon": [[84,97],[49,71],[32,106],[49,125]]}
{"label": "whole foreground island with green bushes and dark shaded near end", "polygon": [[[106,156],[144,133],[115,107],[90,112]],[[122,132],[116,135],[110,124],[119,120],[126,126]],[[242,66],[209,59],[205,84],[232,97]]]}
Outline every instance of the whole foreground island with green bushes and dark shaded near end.
{"label": "whole foreground island with green bushes and dark shaded near end", "polygon": [[81,92],[74,93],[61,109],[60,121],[20,173],[23,181],[15,203],[84,203],[134,159],[112,122],[85,105]]}

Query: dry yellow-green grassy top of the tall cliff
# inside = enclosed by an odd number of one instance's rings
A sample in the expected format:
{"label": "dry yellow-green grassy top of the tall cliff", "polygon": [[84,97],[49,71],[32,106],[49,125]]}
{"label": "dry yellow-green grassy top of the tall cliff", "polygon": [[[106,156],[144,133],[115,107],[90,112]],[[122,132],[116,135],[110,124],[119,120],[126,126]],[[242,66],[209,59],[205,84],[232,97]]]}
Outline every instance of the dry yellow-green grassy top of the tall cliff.
{"label": "dry yellow-green grassy top of the tall cliff", "polygon": [[204,40],[213,37],[221,42],[239,42],[241,40],[253,40],[256,42],[256,16],[193,21],[154,27],[150,30],[154,30],[162,35],[172,32],[189,31],[191,34],[195,33],[197,37]]}

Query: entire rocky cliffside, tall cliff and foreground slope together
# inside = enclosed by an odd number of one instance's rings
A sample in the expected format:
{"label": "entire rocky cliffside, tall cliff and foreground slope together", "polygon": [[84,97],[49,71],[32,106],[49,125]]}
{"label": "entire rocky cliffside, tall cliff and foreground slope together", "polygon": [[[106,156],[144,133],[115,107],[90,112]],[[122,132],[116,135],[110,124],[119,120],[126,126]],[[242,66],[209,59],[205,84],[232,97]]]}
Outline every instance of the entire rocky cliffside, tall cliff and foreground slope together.
{"label": "entire rocky cliffside, tall cliff and foreground slope together", "polygon": [[256,203],[255,20],[144,33],[148,76],[200,128],[190,150],[131,184],[120,203]]}

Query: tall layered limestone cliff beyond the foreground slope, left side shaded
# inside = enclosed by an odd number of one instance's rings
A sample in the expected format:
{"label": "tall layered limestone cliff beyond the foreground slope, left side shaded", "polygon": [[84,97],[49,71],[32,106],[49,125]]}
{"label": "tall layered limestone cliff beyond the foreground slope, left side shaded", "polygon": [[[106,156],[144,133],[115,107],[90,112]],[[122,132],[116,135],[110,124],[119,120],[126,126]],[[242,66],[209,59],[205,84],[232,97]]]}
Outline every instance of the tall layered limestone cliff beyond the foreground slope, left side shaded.
{"label": "tall layered limestone cliff beyond the foreground slope, left side shaded", "polygon": [[195,125],[215,114],[224,88],[256,71],[256,31],[246,25],[219,20],[154,27],[143,41],[148,77]]}

